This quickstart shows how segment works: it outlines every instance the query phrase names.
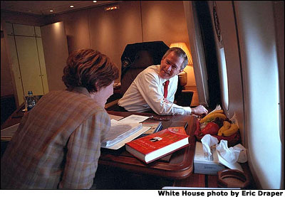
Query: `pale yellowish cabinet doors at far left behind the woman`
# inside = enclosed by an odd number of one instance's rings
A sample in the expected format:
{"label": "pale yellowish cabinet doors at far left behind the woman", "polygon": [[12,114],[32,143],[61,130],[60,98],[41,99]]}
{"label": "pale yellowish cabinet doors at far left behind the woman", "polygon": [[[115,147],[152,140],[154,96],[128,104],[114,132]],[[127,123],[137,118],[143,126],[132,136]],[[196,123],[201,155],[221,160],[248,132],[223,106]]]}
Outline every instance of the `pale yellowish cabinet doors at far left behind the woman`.
{"label": "pale yellowish cabinet doors at far left behind the woman", "polygon": [[6,23],[6,30],[18,105],[21,105],[30,90],[33,95],[44,95],[48,92],[41,29]]}

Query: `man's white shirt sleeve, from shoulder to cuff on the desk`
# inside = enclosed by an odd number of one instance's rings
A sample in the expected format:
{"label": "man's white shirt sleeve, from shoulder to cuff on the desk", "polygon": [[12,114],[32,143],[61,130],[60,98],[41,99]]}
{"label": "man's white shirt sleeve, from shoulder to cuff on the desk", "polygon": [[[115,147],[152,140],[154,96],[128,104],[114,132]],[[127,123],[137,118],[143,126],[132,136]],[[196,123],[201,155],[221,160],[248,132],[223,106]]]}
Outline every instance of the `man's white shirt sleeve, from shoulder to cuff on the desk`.
{"label": "man's white shirt sleeve, from shoulder to cuff on the desk", "polygon": [[160,86],[159,80],[150,73],[146,73],[143,78],[140,78],[137,84],[138,91],[147,102],[147,105],[158,115],[191,115],[190,107],[182,107],[173,102],[166,102]]}

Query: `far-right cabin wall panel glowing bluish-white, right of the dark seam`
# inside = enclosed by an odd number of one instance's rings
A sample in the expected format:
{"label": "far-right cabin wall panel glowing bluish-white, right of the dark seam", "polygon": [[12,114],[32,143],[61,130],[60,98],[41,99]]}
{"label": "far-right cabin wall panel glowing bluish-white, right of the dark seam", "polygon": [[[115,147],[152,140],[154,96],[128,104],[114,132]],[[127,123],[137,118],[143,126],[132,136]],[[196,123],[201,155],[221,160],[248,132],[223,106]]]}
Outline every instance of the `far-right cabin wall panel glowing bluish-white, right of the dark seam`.
{"label": "far-right cabin wall panel glowing bluish-white, right of the dark seam", "polygon": [[284,188],[273,1],[234,1],[234,8],[242,61],[249,166],[261,188]]}

